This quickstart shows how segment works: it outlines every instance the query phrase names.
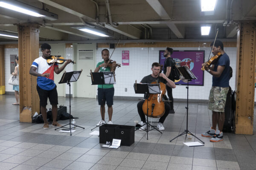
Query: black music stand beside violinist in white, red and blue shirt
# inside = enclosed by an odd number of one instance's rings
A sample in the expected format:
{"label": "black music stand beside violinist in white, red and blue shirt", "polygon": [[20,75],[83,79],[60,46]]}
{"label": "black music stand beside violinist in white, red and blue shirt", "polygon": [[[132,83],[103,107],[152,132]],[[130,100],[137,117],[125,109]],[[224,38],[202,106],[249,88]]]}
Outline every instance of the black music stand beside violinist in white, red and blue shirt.
{"label": "black music stand beside violinist in white, red and blue shirt", "polygon": [[[63,73],[62,77],[61,77],[60,82],[58,82],[58,83],[59,83],[59,84],[67,83],[67,84],[69,85],[69,88],[70,88],[70,82],[76,82],[76,81],[79,79],[79,77],[80,77],[82,71],[83,71],[83,70],[81,70],[81,71],[71,71],[71,72],[66,72],[66,71],[65,71],[65,72]],[[69,127],[65,127],[65,126],[67,126],[67,125],[69,125]],[[64,128],[69,129],[69,130],[70,130],[70,136],[72,136],[71,130],[72,130],[73,128],[75,128],[75,127],[81,127],[81,126],[74,125],[74,124],[71,123],[71,101],[70,101],[70,122],[69,122],[69,124],[67,124],[67,125],[64,125],[64,126],[61,126],[61,127],[64,127]],[[74,127],[71,127],[71,125],[74,125]],[[56,128],[55,130],[57,130],[57,129],[61,128],[61,127],[58,127],[58,128]],[[81,128],[84,129],[84,127],[81,127]]]}

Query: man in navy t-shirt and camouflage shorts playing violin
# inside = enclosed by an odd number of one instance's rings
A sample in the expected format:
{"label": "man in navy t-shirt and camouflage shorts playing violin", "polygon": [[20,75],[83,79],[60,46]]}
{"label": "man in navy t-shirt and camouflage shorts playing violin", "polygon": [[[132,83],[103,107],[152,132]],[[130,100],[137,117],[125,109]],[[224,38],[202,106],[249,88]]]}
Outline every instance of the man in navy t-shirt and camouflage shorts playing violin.
{"label": "man in navy t-shirt and camouflage shorts playing violin", "polygon": [[[227,93],[229,90],[230,79],[230,59],[224,51],[224,45],[220,40],[211,43],[212,54],[221,55],[218,61],[211,67],[205,67],[205,70],[212,75],[212,88],[209,94],[209,110],[212,111],[212,127],[206,133],[201,135],[204,137],[211,137],[211,142],[219,142],[223,140],[223,125],[225,121],[225,104]],[[213,47],[212,47],[213,46]],[[203,66],[204,64],[202,64]],[[218,125],[218,130],[216,126]]]}

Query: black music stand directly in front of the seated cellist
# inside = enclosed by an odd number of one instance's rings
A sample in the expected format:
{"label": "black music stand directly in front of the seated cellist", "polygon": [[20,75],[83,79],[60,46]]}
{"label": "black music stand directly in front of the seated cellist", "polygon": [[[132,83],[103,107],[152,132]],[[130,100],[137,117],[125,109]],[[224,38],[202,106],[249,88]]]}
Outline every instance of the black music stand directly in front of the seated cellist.
{"label": "black music stand directly in front of the seated cellist", "polygon": [[[158,89],[156,90],[153,90],[152,87],[153,86],[157,86]],[[134,83],[134,91],[135,91],[135,94],[144,94],[144,99],[147,99],[148,96],[150,94],[161,94],[161,91],[160,91],[160,84],[148,84],[148,83],[144,83],[144,84],[141,84],[141,83]],[[147,100],[147,121],[145,123],[145,125],[147,126],[147,130],[144,130],[146,133],[147,133],[147,140],[148,140],[148,132],[151,131],[151,130],[157,130],[158,132],[162,133],[160,130],[158,130],[157,128],[155,128],[153,125],[151,125],[150,123],[148,123],[148,100]],[[153,109],[152,109],[152,112],[153,112]],[[153,127],[153,129],[151,130],[148,130],[148,126],[150,127]],[[140,129],[140,128],[139,128]],[[136,129],[138,130],[138,129]],[[135,131],[136,131],[135,130]]]}

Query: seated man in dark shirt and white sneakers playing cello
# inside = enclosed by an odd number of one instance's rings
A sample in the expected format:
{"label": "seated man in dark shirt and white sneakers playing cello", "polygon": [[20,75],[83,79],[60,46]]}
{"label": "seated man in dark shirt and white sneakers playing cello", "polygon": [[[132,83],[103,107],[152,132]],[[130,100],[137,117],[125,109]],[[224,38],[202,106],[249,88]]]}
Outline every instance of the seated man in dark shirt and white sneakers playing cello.
{"label": "seated man in dark shirt and white sneakers playing cello", "polygon": [[[140,83],[152,83],[152,82],[157,81],[157,82],[163,82],[170,88],[176,88],[176,85],[172,80],[170,80],[168,77],[166,77],[165,74],[160,73],[161,69],[160,69],[160,64],[158,62],[154,62],[152,64],[151,71],[152,71],[152,74],[149,74],[148,76],[143,77],[143,79],[140,81]],[[138,113],[139,113],[140,119],[142,121],[140,130],[145,130],[145,128],[146,128],[146,124],[145,124],[146,119],[145,119],[145,114],[143,112],[143,103],[144,103],[144,101],[140,101],[137,104]],[[165,107],[165,113],[163,114],[162,117],[160,117],[159,122],[157,123],[157,128],[159,130],[164,130],[163,122],[166,119],[166,117],[168,116],[169,111],[170,111],[169,102],[165,102],[164,107]]]}

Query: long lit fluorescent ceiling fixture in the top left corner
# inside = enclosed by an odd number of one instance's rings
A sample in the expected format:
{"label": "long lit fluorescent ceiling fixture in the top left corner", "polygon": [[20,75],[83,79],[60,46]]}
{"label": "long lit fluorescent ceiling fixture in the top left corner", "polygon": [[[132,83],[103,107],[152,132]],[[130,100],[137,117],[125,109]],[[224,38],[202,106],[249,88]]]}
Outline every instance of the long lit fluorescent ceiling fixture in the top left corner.
{"label": "long lit fluorescent ceiling fixture in the top left corner", "polygon": [[33,17],[42,17],[47,20],[58,20],[58,15],[16,0],[0,0],[0,7],[27,14]]}

